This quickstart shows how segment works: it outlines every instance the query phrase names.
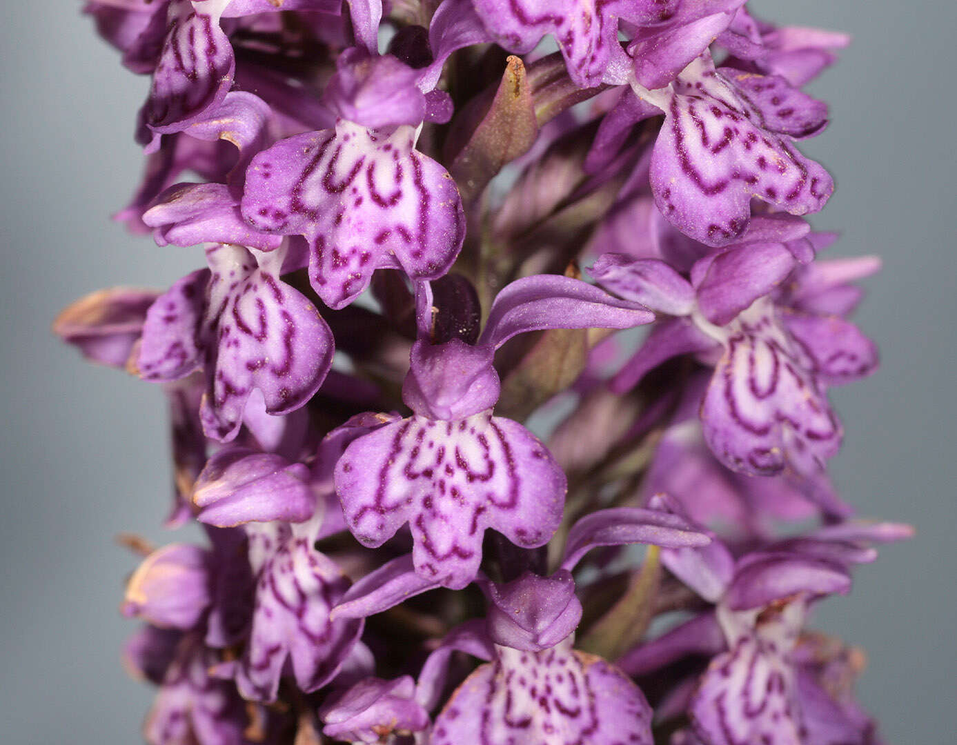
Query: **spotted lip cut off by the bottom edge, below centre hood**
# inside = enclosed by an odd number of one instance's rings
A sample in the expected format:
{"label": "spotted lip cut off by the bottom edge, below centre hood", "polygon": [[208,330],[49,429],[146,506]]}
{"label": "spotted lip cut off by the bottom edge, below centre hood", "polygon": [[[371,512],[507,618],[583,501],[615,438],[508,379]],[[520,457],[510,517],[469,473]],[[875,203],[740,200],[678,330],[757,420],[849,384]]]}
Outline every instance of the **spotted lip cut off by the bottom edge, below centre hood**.
{"label": "spotted lip cut off by the bottom edge, below centre hood", "polygon": [[599,657],[568,642],[541,652],[497,647],[435,718],[432,745],[463,742],[651,745],[644,694]]}

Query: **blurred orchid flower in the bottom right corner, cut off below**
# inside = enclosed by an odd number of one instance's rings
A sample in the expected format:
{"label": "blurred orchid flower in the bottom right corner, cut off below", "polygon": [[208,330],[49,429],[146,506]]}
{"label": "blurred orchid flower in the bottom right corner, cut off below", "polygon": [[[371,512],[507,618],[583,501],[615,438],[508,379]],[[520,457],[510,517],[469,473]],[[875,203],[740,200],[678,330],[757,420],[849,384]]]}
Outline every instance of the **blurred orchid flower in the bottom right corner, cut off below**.
{"label": "blurred orchid flower in the bottom right corner, cut off below", "polygon": [[[677,511],[673,501],[660,497],[653,504]],[[910,535],[908,526],[850,522],[770,543],[738,559],[718,540],[701,548],[664,549],[662,562],[704,600],[716,603],[715,612],[635,648],[619,664],[644,674],[690,651],[717,654],[688,701],[701,743],[823,745],[827,740],[807,736],[804,712],[815,707],[819,712],[819,700],[806,704],[794,653],[809,604],[845,594],[850,567],[877,556],[870,543]],[[720,635],[712,633],[715,628]],[[820,691],[805,686],[804,692]]]}

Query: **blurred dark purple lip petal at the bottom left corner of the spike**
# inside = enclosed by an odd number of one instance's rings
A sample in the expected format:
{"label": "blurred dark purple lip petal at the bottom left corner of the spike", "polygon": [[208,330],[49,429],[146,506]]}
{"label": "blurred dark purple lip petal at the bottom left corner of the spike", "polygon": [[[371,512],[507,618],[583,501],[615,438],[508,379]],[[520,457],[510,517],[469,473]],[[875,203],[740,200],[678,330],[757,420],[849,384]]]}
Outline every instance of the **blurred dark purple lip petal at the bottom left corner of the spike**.
{"label": "blurred dark purple lip petal at the bottom left corner of the spike", "polygon": [[217,680],[211,668],[217,655],[195,634],[176,647],[152,708],[144,736],[156,745],[216,742],[240,745],[247,725],[246,704],[230,681]]}

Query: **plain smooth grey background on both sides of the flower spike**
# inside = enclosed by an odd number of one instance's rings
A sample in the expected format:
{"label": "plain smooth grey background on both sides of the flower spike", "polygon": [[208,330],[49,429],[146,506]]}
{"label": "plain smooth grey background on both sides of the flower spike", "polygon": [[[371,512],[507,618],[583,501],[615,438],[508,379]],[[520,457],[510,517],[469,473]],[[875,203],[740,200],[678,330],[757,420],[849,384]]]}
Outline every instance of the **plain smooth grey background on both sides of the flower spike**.
{"label": "plain smooth grey background on both sides of the flower spike", "polygon": [[[876,252],[882,274],[857,319],[879,375],[834,393],[847,427],[835,460],[867,515],[917,526],[829,601],[818,625],[864,646],[860,698],[891,742],[952,743],[954,663],[955,5],[944,0],[753,2],[780,22],[855,36],[812,85],[834,122],[804,150],[838,190],[816,225],[836,252]],[[50,334],[60,307],[116,284],[166,287],[196,251],[158,249],[109,222],[136,182],[131,140],[146,81],[123,70],[78,3],[11,2],[2,38],[3,381],[0,458],[0,740],[131,743],[151,692],[128,680],[117,606],[135,559],[159,542],[167,430],[158,390],[80,362]]]}

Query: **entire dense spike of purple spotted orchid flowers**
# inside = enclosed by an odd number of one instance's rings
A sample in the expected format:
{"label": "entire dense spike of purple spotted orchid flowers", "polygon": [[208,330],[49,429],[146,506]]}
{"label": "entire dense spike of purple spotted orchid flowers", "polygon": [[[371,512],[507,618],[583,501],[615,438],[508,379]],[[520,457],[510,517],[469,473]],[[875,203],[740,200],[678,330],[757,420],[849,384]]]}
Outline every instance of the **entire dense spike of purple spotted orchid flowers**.
{"label": "entire dense spike of purple spotted orchid flowers", "polygon": [[205,258],[55,326],[162,387],[168,524],[207,537],[126,588],[148,742],[876,742],[805,627],[910,534],[827,473],[828,388],[878,363],[878,260],[803,217],[846,37],[744,0],[85,11],[151,77],[117,219]]}

